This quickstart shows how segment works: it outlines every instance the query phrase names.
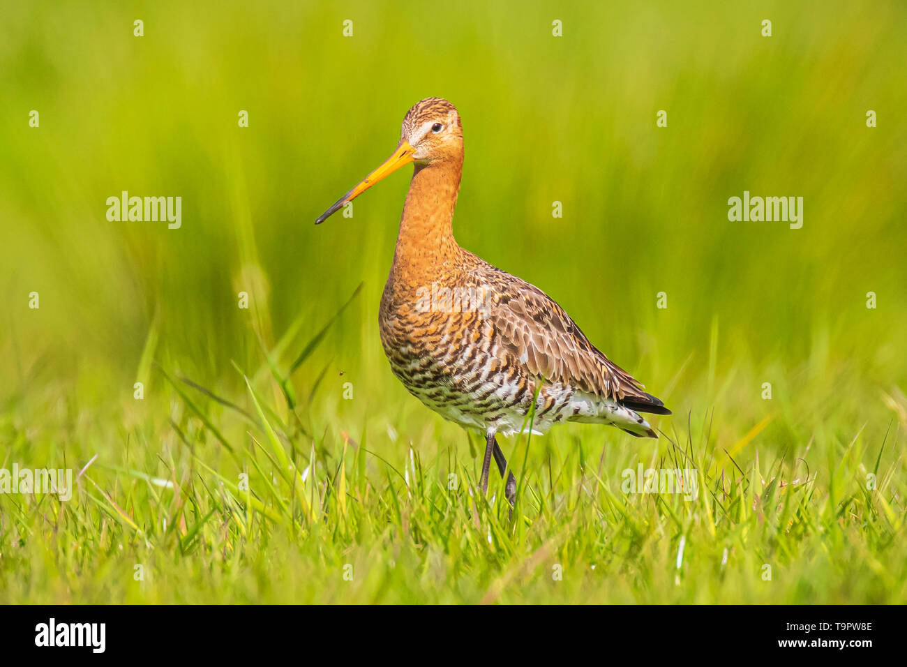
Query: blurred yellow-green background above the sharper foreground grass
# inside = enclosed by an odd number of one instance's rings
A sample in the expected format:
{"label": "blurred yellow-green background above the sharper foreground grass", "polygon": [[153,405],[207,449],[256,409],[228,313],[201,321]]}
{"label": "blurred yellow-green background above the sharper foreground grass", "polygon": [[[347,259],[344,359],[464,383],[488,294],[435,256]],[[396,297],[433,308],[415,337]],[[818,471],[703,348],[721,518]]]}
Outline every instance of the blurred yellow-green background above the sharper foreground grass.
{"label": "blurred yellow-green background above the sharper foreground grass", "polygon": [[[182,424],[152,359],[249,407],[239,368],[279,406],[262,348],[286,371],[360,283],[292,376],[307,432],[367,430],[395,462],[465,442],[378,338],[408,175],[313,224],[432,95],[463,118],[457,240],[557,299],[674,410],[658,427],[729,447],[771,417],[769,450],[861,429],[877,447],[890,428],[902,446],[902,2],[0,5],[0,463],[16,445],[76,467],[132,447],[151,473]],[[107,221],[121,191],[180,196],[181,229]],[[802,196],[803,229],[728,221],[743,191]]]}

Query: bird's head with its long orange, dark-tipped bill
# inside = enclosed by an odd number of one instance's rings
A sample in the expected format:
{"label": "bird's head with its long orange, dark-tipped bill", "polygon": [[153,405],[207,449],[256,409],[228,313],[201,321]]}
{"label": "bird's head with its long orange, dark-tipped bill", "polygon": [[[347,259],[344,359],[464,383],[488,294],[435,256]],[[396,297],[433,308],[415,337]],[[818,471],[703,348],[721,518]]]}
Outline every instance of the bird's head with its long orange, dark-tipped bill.
{"label": "bird's head with its long orange, dark-tipped bill", "polygon": [[421,169],[436,162],[450,160],[463,161],[463,125],[460,123],[460,114],[447,100],[426,97],[406,112],[395,152],[318,216],[315,224],[326,221],[346,203],[410,162],[415,162],[416,168]]}

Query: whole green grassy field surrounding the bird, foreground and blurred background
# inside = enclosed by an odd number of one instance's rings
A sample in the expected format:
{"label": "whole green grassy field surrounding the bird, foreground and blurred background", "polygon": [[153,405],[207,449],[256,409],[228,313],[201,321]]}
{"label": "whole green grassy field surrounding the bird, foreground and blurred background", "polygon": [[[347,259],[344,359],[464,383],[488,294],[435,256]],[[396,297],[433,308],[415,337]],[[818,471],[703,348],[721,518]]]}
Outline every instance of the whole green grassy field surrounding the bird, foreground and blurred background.
{"label": "whole green grassy field surrounding the bird, foreground and blurred background", "polygon": [[[0,469],[73,470],[0,603],[907,600],[902,3],[0,4]],[[312,224],[430,95],[460,243],[674,411],[503,440],[512,520],[381,349],[408,177]]]}

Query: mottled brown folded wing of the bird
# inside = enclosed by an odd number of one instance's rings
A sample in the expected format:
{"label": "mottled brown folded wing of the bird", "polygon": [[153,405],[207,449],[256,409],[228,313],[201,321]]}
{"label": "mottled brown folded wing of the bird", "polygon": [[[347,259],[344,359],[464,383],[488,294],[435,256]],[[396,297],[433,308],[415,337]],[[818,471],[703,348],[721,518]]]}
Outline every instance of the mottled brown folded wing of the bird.
{"label": "mottled brown folded wing of the bird", "polygon": [[495,270],[488,319],[514,357],[533,375],[580,387],[600,397],[661,405],[589,342],[564,310],[541,289]]}

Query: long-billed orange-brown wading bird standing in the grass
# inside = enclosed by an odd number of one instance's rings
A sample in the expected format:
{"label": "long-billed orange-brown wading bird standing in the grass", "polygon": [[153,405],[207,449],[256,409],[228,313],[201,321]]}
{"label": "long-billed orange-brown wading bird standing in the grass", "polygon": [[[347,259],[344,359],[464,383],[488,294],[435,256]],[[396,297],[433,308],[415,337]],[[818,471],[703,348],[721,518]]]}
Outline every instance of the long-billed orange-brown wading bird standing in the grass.
{"label": "long-billed orange-brown wading bird standing in the grass", "polygon": [[507,472],[505,496],[515,503],[516,480],[499,435],[543,434],[557,424],[582,422],[658,437],[639,413],[671,414],[660,399],[596,348],[545,292],[454,240],[463,122],[444,98],[415,103],[393,154],[316,224],[411,163],[378,310],[381,343],[394,375],[414,397],[483,436],[483,494],[494,458],[502,478]]}

